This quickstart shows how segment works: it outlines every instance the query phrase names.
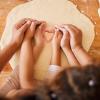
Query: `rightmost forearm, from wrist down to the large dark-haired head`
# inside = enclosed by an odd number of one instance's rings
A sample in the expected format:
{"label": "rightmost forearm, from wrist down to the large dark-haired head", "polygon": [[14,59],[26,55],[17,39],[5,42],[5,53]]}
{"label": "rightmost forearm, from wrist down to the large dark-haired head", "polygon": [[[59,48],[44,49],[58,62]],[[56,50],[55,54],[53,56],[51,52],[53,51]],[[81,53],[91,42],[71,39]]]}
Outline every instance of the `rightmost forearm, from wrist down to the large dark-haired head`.
{"label": "rightmost forearm, from wrist down to the large dark-haired head", "polygon": [[73,53],[83,66],[94,63],[94,59],[82,47],[73,49]]}

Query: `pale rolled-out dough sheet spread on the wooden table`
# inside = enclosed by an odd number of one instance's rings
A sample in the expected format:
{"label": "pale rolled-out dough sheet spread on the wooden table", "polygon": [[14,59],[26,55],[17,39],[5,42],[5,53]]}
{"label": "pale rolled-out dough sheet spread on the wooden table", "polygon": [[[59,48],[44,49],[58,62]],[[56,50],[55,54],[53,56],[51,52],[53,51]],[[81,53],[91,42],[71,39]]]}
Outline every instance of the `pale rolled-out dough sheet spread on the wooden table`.
{"label": "pale rolled-out dough sheet spread on the wooden table", "polygon": [[[45,20],[50,26],[55,24],[73,24],[83,32],[83,46],[89,50],[95,36],[94,25],[85,15],[80,13],[76,6],[68,0],[33,0],[31,2],[15,7],[7,17],[7,24],[1,38],[3,48],[11,38],[12,26],[22,18],[35,18]],[[51,58],[51,44],[48,43],[35,66],[35,77],[43,79],[45,77]],[[16,53],[10,60],[14,68],[19,60],[19,53]],[[62,66],[67,66],[67,60],[62,55]]]}

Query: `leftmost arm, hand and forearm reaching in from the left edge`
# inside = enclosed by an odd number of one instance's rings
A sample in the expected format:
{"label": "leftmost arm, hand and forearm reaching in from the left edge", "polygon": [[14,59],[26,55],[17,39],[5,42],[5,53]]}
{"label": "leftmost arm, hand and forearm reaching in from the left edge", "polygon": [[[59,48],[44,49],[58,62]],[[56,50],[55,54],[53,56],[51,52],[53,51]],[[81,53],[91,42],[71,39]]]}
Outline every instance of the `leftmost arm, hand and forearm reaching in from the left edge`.
{"label": "leftmost arm, hand and forearm reaching in from the left edge", "polygon": [[10,42],[0,50],[0,71],[3,69],[5,64],[8,63],[13,54],[20,48],[25,31],[28,27],[29,23],[27,23],[27,19],[20,20],[14,25]]}

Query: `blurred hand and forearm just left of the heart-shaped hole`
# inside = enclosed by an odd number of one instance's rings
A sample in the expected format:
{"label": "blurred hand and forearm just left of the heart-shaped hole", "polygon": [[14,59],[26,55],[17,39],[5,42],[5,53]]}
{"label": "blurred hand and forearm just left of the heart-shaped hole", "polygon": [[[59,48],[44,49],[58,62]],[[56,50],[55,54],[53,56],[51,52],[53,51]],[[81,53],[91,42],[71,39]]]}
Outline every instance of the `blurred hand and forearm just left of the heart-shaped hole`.
{"label": "blurred hand and forearm just left of the heart-shaped hole", "polygon": [[34,53],[35,62],[39,58],[40,53],[42,52],[46,42],[46,38],[44,34],[45,28],[46,28],[46,22],[42,22],[42,24],[36,30],[36,34],[34,35],[35,43],[33,44],[33,53]]}

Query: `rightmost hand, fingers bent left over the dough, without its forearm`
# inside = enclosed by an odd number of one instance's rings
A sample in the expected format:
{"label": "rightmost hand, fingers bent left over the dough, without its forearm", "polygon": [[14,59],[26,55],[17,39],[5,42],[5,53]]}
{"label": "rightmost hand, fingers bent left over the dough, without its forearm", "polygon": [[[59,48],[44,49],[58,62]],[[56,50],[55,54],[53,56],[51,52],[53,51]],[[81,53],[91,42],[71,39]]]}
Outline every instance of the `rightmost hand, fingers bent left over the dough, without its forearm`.
{"label": "rightmost hand, fingers bent left over the dough, without its forearm", "polygon": [[62,25],[70,35],[70,45],[71,49],[82,47],[82,32],[77,27],[73,25]]}

